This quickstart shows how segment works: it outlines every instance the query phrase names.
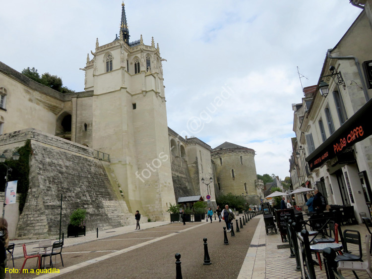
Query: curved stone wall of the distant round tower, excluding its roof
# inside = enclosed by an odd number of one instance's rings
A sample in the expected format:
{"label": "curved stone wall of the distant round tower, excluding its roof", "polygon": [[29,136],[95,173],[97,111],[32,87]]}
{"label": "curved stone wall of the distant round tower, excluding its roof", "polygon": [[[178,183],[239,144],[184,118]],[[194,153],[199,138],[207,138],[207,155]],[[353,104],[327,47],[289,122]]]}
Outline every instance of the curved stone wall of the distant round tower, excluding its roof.
{"label": "curved stone wall of the distant round tower, excluding its roof", "polygon": [[[241,157],[243,165],[241,164]],[[222,166],[220,164],[222,158]],[[212,159],[215,162],[215,171],[217,183],[220,183],[221,191],[224,194],[229,192],[235,195],[245,193],[247,183],[248,195],[257,195],[255,180],[257,179],[256,167],[254,164],[254,155],[246,151],[231,151],[212,153]],[[234,176],[232,175],[234,169]]]}

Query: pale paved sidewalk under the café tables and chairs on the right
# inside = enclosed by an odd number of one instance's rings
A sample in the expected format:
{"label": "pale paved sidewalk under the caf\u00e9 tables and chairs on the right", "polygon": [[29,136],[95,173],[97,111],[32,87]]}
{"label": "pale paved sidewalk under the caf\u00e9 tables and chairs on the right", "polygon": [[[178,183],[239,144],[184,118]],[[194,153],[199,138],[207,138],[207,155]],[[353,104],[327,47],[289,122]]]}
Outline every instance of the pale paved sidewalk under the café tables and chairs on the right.
{"label": "pale paved sidewalk under the caf\u00e9 tables and chairs on the right", "polygon": [[[260,221],[253,235],[248,253],[246,255],[246,259],[243,263],[238,279],[300,279],[301,271],[295,271],[296,259],[289,258],[290,249],[279,249],[279,245],[288,244],[288,242],[282,242],[279,230],[278,234],[269,233],[269,235],[266,235],[263,216],[259,215],[255,218],[260,218]],[[353,229],[360,232],[362,239],[363,259],[365,260],[366,246],[364,236],[366,235],[366,233],[368,234],[366,226],[364,224],[350,225],[342,226],[341,229],[342,231],[344,231],[345,229]],[[357,251],[356,254],[358,254]],[[313,259],[315,259],[314,256]],[[317,279],[327,278],[324,271],[324,265],[322,271],[319,269],[318,266],[315,266],[314,268]],[[361,279],[369,278],[366,272],[358,272],[357,274]],[[342,275],[346,279],[355,278],[351,271],[344,271],[342,272]]]}

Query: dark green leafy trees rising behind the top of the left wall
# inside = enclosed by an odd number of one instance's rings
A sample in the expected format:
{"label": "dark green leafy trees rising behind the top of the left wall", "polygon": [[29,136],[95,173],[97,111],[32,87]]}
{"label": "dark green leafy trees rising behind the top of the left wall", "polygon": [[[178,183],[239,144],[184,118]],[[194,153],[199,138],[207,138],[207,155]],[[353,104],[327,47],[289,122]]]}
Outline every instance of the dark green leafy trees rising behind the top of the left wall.
{"label": "dark green leafy trees rising behind the top of the left wall", "polygon": [[33,68],[27,67],[27,69],[23,69],[21,73],[35,80],[36,82],[44,84],[45,86],[48,86],[63,94],[75,92],[71,89],[68,89],[66,86],[63,86],[62,78],[58,77],[57,75],[51,75],[50,73],[43,73],[40,77],[38,70],[35,69],[34,67]]}

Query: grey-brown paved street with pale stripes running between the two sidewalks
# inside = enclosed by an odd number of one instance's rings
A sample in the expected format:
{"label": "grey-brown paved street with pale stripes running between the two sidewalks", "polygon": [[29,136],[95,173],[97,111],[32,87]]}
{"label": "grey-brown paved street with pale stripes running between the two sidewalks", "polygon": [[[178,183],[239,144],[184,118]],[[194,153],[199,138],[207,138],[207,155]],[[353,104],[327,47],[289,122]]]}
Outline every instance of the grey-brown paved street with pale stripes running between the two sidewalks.
{"label": "grey-brown paved street with pale stripes running between the two sidewalks", "polygon": [[[224,245],[224,222],[217,220],[132,229],[113,237],[68,246],[62,251],[64,268],[61,263],[56,266],[61,269],[58,278],[149,278],[149,274],[151,278],[175,278],[176,253],[181,254],[184,278],[237,278],[258,222],[259,218],[251,220],[235,237],[228,233],[229,245]],[[208,239],[212,262],[209,266],[203,265],[204,237]],[[83,237],[74,239],[79,238]],[[15,267],[20,268],[23,260],[15,260]],[[36,259],[29,259],[25,268],[32,269],[35,265]],[[35,277],[36,274],[12,275],[12,278]]]}

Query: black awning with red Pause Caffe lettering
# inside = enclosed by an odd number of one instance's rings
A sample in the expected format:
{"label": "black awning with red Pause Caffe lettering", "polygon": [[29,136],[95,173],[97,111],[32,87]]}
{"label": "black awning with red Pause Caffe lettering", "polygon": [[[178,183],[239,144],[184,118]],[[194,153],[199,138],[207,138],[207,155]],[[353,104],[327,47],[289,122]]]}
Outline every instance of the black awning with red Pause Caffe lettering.
{"label": "black awning with red Pause Caffe lettering", "polygon": [[341,154],[348,147],[364,140],[371,134],[372,99],[306,158],[310,170],[321,167],[326,161]]}

